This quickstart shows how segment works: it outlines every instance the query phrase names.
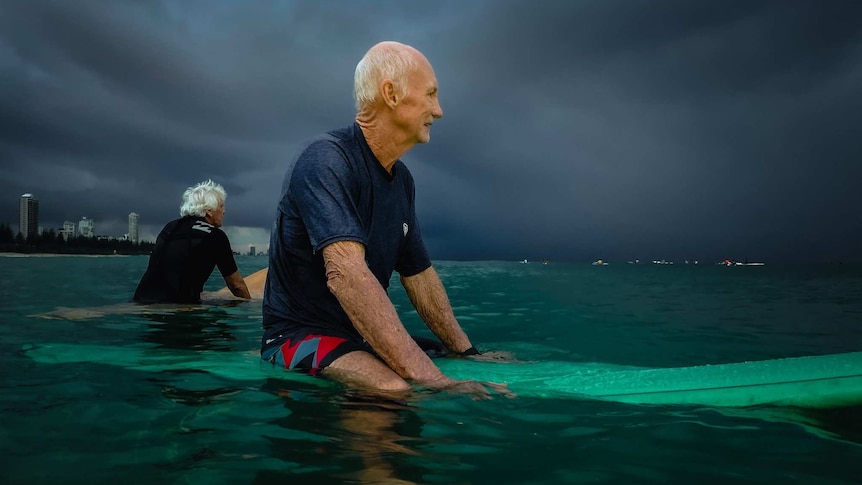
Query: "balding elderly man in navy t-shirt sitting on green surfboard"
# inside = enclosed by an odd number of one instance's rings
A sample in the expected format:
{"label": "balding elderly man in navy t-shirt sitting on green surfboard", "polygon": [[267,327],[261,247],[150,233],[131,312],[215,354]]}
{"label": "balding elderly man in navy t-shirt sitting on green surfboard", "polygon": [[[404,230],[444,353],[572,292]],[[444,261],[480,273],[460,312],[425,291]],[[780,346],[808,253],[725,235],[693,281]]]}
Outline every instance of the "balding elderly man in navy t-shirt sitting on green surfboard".
{"label": "balding elderly man in navy t-shirt sitting on green surfboard", "polygon": [[355,123],[312,140],[287,170],[271,232],[261,356],[351,387],[505,392],[443,375],[387,295],[397,271],[445,345],[438,350],[479,353],[431,265],[413,178],[399,160],[427,143],[443,116],[431,64],[410,46],[379,43],[356,66],[354,96]]}

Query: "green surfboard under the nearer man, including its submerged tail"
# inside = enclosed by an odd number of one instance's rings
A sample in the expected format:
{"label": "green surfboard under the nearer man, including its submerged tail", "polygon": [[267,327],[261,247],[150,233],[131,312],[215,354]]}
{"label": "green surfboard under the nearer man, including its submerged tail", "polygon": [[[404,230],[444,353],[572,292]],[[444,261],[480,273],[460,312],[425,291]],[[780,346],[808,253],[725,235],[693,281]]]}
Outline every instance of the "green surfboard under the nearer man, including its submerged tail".
{"label": "green surfboard under the nearer man, including its submerged tail", "polygon": [[[62,343],[22,350],[41,363],[95,362],[147,372],[199,370],[234,380],[278,377],[321,381],[273,368],[256,351],[192,352]],[[559,361],[503,363],[443,358],[435,362],[450,377],[505,383],[524,397],[718,407],[862,405],[862,352],[665,369]]]}

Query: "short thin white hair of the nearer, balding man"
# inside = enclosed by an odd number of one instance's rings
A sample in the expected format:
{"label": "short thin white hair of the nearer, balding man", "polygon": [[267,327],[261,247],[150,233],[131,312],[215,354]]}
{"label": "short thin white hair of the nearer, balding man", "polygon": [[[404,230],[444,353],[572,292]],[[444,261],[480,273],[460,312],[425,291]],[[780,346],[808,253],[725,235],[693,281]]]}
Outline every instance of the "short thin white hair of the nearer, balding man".
{"label": "short thin white hair of the nearer, balding man", "polygon": [[398,42],[381,42],[365,53],[353,75],[353,99],[357,111],[377,99],[384,79],[392,80],[399,96],[407,94],[407,74],[418,66],[410,50],[415,49]]}

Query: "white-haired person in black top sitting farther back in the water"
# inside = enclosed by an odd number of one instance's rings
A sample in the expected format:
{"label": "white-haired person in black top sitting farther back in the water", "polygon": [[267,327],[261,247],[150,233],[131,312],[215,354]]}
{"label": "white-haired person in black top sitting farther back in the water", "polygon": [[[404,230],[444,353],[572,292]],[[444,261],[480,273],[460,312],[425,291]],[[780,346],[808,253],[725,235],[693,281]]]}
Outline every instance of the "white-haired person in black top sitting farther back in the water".
{"label": "white-haired person in black top sitting farther back in the water", "polygon": [[216,266],[234,296],[250,298],[230,241],[219,229],[226,198],[224,188],[212,180],[183,193],[182,217],[167,223],[159,233],[134,301],[200,303],[204,284]]}

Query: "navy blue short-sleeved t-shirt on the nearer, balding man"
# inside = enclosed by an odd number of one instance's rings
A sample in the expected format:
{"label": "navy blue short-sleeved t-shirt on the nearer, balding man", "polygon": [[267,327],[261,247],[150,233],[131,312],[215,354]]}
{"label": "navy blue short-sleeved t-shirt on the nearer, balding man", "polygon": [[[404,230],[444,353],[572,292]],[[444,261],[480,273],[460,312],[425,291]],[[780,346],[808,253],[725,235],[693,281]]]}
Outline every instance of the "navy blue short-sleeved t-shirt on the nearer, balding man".
{"label": "navy blue short-sleeved t-shirt on the nearer, balding man", "polygon": [[384,289],[393,271],[412,276],[431,266],[413,177],[400,160],[387,173],[356,123],[311,141],[287,170],[270,234],[264,348],[296,331],[361,340],[326,286],[322,250],[337,241],[365,246]]}

